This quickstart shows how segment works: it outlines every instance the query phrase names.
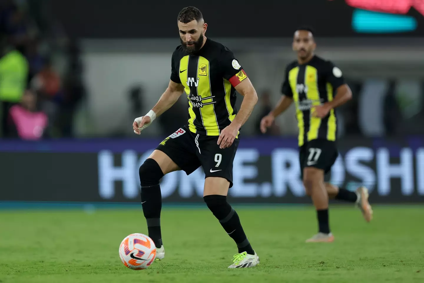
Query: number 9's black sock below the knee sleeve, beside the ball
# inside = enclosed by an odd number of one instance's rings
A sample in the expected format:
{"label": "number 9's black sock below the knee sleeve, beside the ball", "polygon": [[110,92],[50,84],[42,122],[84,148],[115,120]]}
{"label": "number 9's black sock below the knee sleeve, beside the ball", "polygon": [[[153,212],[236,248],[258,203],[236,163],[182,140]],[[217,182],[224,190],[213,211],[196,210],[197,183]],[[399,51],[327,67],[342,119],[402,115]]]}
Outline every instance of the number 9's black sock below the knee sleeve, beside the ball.
{"label": "number 9's black sock below the knee sleeve, beside the ball", "polygon": [[141,187],[141,205],[147,221],[149,237],[157,248],[162,246],[160,229],[160,212],[162,210],[162,194],[159,185]]}

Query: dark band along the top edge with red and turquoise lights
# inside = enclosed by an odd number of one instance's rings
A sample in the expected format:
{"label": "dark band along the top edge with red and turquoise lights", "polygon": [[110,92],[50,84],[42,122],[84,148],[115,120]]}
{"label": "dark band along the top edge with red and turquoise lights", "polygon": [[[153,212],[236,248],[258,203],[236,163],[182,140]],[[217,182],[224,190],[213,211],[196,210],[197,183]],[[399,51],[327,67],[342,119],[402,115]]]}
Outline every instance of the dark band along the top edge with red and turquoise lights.
{"label": "dark band along the top edge with red and turquoise lights", "polygon": [[[424,11],[411,8],[408,1],[345,0],[284,0],[284,1],[138,1],[138,0],[50,0],[49,6],[67,31],[77,38],[174,38],[177,36],[177,16],[181,8],[196,6],[209,24],[212,37],[291,37],[298,25],[312,25],[322,37],[351,36],[416,36],[424,33]],[[391,5],[392,2],[395,2]],[[399,3],[402,2],[402,3]],[[413,2],[413,1],[411,1]],[[415,1],[418,3],[418,1]],[[371,5],[374,4],[374,5]],[[418,3],[419,4],[419,3]],[[420,5],[416,5],[417,8]],[[422,6],[422,5],[421,5]],[[81,9],[81,7],[84,7]],[[354,14],[357,7],[369,8],[411,18],[379,17],[375,14]],[[363,9],[360,9],[363,11]],[[421,8],[422,10],[422,8]],[[75,21],[75,17],[78,21]],[[365,34],[354,28],[355,20],[370,23],[394,23],[394,30],[382,28]],[[379,18],[377,18],[379,17]],[[384,17],[384,16],[383,16]],[[410,24],[413,21],[416,24]],[[396,23],[398,23],[396,25]],[[400,32],[396,27],[411,25]],[[381,28],[381,25],[378,25]],[[372,28],[372,27],[371,27]],[[401,28],[400,31],[404,31]],[[266,44],[264,42],[264,44]]]}

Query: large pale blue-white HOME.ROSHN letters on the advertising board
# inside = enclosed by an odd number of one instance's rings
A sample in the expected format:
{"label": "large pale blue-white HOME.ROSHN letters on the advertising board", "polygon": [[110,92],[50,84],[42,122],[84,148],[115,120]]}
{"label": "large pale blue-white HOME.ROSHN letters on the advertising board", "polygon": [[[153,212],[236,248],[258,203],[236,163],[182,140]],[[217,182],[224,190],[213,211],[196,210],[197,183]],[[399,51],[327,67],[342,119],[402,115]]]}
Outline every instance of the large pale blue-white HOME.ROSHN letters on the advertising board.
{"label": "large pale blue-white HOME.ROSHN letters on the advertising board", "polygon": [[[123,182],[123,196],[128,199],[139,197],[139,166],[151,154],[146,151],[141,157],[132,150],[124,151],[121,157],[122,166],[114,166],[114,156],[110,151],[98,154],[99,194],[103,199],[113,199],[115,181]],[[271,179],[255,182],[258,177],[259,151],[257,149],[238,149],[234,159],[233,182],[229,191],[232,197],[284,197],[288,191],[294,196],[304,196],[304,187],[299,179],[298,151],[295,149],[275,149],[271,153]],[[375,160],[375,170],[368,164]],[[415,162],[414,162],[415,160]],[[357,181],[346,182],[346,173]],[[414,173],[416,179],[414,179]],[[204,173],[198,168],[187,176],[184,171],[176,171],[165,175],[161,180],[162,197],[178,193],[181,198],[203,196]],[[399,151],[399,162],[391,163],[389,150],[368,147],[355,147],[339,155],[332,167],[331,180],[335,185],[344,185],[354,189],[365,185],[371,191],[377,190],[380,196],[391,193],[391,180],[399,179],[402,195],[409,196],[417,191],[424,195],[424,149],[415,153],[409,148]]]}

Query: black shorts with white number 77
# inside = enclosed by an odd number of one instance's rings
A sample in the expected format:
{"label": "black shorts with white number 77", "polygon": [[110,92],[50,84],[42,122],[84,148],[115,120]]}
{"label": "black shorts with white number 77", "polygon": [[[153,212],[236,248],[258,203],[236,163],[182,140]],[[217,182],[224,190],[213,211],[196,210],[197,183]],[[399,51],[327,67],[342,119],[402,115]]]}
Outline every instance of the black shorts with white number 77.
{"label": "black shorts with white number 77", "polygon": [[303,169],[314,167],[324,170],[327,174],[336,162],[339,153],[336,143],[330,140],[310,140],[299,148],[300,174],[303,179]]}

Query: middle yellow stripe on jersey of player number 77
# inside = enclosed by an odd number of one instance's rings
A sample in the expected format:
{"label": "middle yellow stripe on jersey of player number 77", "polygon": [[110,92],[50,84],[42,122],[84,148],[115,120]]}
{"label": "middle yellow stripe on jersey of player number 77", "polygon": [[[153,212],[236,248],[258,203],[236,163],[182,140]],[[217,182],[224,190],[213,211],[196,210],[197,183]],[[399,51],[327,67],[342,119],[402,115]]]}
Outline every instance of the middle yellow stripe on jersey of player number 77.
{"label": "middle yellow stripe on jersey of player number 77", "polygon": [[[305,70],[305,85],[307,86],[306,98],[311,101],[311,106],[320,105],[320,96],[318,90],[318,70],[312,66],[306,66]],[[307,134],[308,141],[316,140],[318,138],[318,130],[321,126],[321,118],[311,117],[309,124],[309,131]]]}

